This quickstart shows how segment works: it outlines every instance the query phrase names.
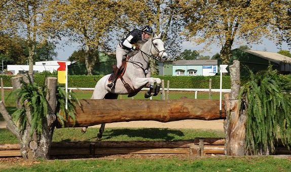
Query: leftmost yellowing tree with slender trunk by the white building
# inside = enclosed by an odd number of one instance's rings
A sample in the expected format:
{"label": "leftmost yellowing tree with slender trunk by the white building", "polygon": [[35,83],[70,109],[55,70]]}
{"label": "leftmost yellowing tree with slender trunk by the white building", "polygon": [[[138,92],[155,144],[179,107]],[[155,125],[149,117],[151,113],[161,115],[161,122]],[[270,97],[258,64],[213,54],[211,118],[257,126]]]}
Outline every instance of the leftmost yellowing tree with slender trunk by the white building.
{"label": "leftmost yellowing tree with slender trunk by the white building", "polygon": [[4,21],[1,24],[1,31],[9,34],[19,35],[27,42],[29,75],[33,72],[33,61],[35,57],[37,41],[47,40],[50,34],[46,27],[50,24],[48,15],[49,1],[15,0],[4,1],[1,4],[1,13]]}

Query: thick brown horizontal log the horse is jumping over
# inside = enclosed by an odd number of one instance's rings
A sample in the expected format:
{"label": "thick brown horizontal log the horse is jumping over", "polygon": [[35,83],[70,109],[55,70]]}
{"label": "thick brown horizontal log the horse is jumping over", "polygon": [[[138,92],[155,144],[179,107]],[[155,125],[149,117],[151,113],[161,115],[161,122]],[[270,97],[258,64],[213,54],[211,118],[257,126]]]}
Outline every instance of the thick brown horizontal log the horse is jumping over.
{"label": "thick brown horizontal log the horse is jumping over", "polygon": [[[160,122],[184,119],[215,120],[220,117],[219,100],[80,100],[76,108],[77,121],[65,127],[83,127],[101,123],[155,120]],[[60,127],[60,122],[57,127]]]}

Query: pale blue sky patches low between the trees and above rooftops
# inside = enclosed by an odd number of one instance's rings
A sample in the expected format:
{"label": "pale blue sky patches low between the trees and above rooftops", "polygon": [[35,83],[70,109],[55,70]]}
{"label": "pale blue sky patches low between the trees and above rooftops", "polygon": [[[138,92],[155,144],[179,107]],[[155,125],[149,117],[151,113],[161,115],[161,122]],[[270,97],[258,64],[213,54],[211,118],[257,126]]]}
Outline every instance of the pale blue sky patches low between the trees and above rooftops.
{"label": "pale blue sky patches low between the trees and above rooftops", "polygon": [[[241,45],[233,45],[232,49],[236,49]],[[278,47],[276,47],[276,45],[267,39],[263,39],[262,44],[252,44],[251,46],[251,50],[258,50],[258,51],[268,51],[268,52],[278,52],[280,49]],[[56,52],[58,53],[57,57],[55,58],[55,60],[62,60],[65,61],[68,59],[68,57],[76,50],[78,50],[78,44],[72,44],[72,45],[64,45],[63,47],[61,46],[57,46],[56,48]],[[185,49],[188,50],[202,50],[203,45],[195,45],[192,42],[189,41],[184,41],[182,44],[182,52]],[[201,52],[200,55],[203,56],[210,56],[212,57],[214,54],[219,53],[221,50],[221,47],[217,47],[215,45],[210,46],[210,51],[207,52]],[[283,44],[282,45],[282,50],[290,50],[290,47],[288,48],[287,44]]]}

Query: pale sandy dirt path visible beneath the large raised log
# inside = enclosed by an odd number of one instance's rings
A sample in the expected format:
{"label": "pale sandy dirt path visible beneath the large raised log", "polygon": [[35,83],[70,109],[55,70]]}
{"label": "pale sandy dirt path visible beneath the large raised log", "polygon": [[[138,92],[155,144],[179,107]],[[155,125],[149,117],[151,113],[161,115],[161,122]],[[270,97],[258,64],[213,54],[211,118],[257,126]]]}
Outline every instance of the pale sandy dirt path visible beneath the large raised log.
{"label": "pale sandy dirt path visible beneath the large raised log", "polygon": [[[190,129],[205,129],[205,130],[224,130],[223,119],[220,120],[180,120],[172,122],[157,122],[157,121],[130,121],[130,122],[115,122],[108,123],[106,127],[125,127],[125,128],[190,128]],[[91,127],[100,127],[100,125],[94,125]],[[6,128],[6,122],[0,121],[0,128]]]}

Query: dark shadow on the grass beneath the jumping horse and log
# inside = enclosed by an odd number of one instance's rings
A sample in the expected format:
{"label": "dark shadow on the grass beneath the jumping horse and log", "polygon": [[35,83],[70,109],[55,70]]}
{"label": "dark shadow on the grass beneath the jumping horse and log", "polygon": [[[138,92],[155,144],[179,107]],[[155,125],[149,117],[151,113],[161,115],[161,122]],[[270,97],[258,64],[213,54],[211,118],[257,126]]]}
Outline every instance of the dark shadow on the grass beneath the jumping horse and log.
{"label": "dark shadow on the grass beneath the jumping horse and log", "polygon": [[173,140],[175,136],[183,137],[184,133],[168,128],[140,128],[140,129],[111,129],[104,132],[103,139],[110,140],[117,137],[143,138],[154,140]]}

